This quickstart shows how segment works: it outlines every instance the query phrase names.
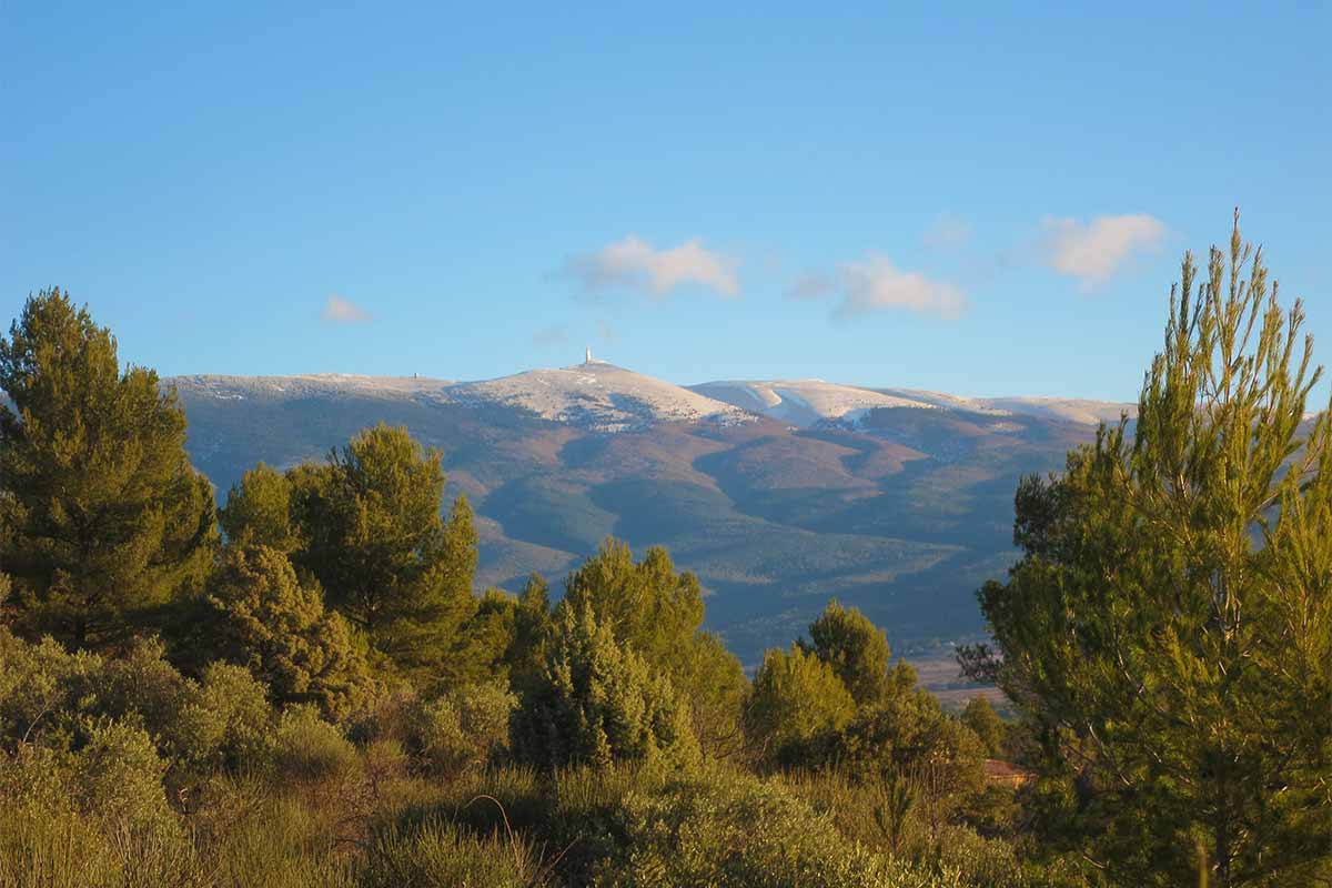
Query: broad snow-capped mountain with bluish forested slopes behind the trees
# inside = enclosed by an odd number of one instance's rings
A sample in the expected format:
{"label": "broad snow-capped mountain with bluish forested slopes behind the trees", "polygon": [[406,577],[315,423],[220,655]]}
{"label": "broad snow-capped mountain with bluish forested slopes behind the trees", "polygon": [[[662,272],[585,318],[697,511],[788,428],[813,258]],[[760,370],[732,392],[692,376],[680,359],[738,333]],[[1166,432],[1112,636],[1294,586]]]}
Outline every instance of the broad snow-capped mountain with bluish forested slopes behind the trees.
{"label": "broad snow-capped mountain with bluish forested slopes behind the trees", "polygon": [[665,545],[746,662],[830,596],[902,651],[982,630],[975,588],[1012,559],[1012,494],[1123,405],[967,399],[822,381],[682,387],[587,362],[482,382],[350,375],[166,381],[224,498],[264,461],[405,425],[478,515],[480,582],[559,580],[609,534]]}

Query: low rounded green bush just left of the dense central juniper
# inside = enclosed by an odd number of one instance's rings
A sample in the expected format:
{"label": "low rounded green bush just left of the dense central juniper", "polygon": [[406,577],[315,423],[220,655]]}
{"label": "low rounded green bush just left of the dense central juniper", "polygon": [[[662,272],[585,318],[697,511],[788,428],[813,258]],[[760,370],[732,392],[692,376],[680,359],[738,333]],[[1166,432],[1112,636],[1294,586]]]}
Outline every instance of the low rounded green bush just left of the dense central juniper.
{"label": "low rounded green bush just left of the dense central juniper", "polygon": [[432,774],[452,776],[509,750],[509,722],[518,699],[490,682],[454,688],[408,707],[409,750]]}

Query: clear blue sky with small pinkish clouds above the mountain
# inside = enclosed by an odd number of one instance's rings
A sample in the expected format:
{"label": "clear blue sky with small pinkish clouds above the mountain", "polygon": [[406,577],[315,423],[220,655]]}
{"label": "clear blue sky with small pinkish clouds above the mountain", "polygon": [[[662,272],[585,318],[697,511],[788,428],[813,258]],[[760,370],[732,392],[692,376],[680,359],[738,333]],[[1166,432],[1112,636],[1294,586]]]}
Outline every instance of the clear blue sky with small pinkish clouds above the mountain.
{"label": "clear blue sky with small pinkish clouds above the mountain", "polygon": [[389,5],[0,4],[4,317],[64,286],[164,374],[1130,399],[1237,204],[1332,362],[1325,3]]}

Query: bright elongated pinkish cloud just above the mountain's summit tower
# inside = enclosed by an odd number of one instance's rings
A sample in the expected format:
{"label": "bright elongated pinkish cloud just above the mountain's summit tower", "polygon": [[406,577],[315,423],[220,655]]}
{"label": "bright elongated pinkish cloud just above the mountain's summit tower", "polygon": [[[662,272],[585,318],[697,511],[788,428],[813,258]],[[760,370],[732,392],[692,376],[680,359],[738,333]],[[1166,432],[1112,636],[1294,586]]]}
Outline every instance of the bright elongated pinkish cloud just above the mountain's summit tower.
{"label": "bright elongated pinkish cloud just above the mountain's summit tower", "polygon": [[658,250],[630,234],[595,253],[573,257],[565,270],[590,293],[623,289],[665,297],[677,288],[694,285],[738,297],[738,260],[706,249],[697,238]]}

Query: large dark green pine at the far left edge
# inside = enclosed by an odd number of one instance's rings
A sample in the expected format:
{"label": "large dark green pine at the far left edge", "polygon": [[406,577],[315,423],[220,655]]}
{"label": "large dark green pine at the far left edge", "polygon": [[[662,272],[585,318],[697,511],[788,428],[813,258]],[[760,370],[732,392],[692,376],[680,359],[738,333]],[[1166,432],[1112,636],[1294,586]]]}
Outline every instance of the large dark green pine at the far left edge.
{"label": "large dark green pine at the far left edge", "polygon": [[[116,339],[60,290],[0,338],[0,563],[19,626],[105,648],[206,570],[212,490],[157,374],[121,371]],[[141,616],[140,616],[141,619]]]}

